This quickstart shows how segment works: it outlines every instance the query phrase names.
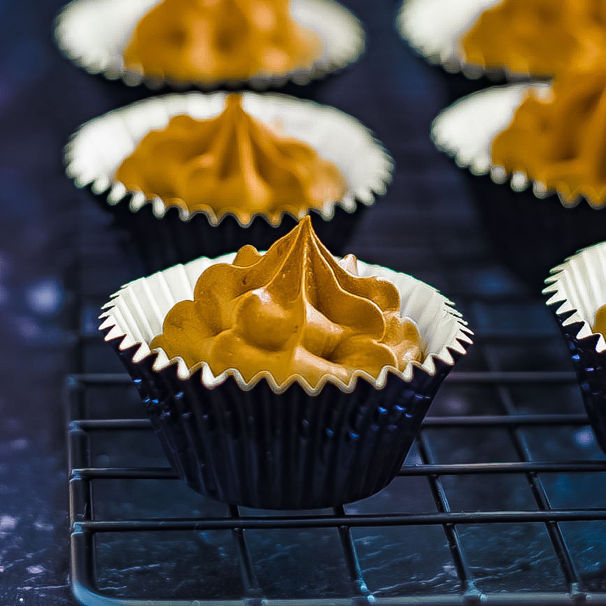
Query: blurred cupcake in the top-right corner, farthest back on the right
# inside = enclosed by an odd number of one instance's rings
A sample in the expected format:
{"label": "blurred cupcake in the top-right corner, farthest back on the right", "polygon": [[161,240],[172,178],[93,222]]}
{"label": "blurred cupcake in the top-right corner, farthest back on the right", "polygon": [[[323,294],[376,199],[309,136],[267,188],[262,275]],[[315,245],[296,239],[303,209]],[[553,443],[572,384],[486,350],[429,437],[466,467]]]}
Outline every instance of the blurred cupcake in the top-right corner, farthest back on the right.
{"label": "blurred cupcake in the top-right corner, farthest back on the right", "polygon": [[398,25],[428,61],[479,79],[450,79],[454,99],[490,81],[587,65],[604,47],[606,8],[601,0],[404,0]]}

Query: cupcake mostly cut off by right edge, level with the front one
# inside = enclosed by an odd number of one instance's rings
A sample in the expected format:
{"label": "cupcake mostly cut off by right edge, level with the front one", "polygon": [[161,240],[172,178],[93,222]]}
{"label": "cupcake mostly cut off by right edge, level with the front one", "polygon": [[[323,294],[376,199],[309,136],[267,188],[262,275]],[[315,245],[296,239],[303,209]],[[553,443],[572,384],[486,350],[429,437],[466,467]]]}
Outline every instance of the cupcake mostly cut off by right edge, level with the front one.
{"label": "cupcake mostly cut off by right edge, level with the front one", "polygon": [[570,349],[598,444],[606,453],[606,242],[551,270],[543,291]]}

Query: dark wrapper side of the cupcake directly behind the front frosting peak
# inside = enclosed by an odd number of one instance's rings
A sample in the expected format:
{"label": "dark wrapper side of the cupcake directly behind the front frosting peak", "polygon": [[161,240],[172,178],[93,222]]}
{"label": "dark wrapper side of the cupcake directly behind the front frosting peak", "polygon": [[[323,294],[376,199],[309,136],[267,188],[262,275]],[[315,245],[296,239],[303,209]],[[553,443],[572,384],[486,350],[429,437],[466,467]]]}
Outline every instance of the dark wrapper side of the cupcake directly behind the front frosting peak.
{"label": "dark wrapper side of the cupcake directly behind the front frosting peak", "polygon": [[[143,273],[160,271],[200,256],[223,255],[245,244],[267,250],[298,222],[294,217],[284,215],[281,223],[272,227],[266,219],[257,216],[248,227],[242,227],[234,216],[227,215],[218,225],[211,225],[204,213],[196,213],[183,221],[179,209],[169,207],[164,216],[158,218],[151,204],[145,204],[135,212],[130,210],[130,195],[113,205],[107,204],[106,194],[93,193],[93,196],[102,210],[112,214],[122,247],[128,255],[136,255],[137,265]],[[310,216],[321,241],[332,253],[341,255],[346,252],[366,209],[366,205],[359,203],[355,210],[348,212],[336,205],[335,215],[328,221],[314,211]]]}

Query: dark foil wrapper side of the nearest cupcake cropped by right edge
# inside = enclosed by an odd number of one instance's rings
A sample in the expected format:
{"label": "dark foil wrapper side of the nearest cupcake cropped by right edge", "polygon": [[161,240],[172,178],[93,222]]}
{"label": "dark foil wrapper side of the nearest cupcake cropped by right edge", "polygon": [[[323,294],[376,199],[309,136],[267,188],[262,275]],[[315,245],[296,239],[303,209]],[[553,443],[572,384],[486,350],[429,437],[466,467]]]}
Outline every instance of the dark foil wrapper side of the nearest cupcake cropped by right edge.
{"label": "dark foil wrapper side of the nearest cupcake cropped by right edge", "polygon": [[558,313],[557,310],[563,303],[564,301],[556,301],[548,305],[568,344],[591,428],[600,448],[606,453],[606,351],[596,350],[599,335],[578,337],[584,322],[564,324],[576,310]]}

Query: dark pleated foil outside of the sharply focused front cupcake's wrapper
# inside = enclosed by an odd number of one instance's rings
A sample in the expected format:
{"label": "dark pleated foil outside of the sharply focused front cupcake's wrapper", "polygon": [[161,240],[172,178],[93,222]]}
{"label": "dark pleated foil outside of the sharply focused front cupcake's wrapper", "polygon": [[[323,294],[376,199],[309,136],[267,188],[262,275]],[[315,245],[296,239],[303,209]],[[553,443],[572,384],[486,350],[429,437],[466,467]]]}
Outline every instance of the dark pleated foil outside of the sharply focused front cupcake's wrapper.
{"label": "dark pleated foil outside of the sharply focused front cupcake's wrapper", "polygon": [[121,341],[109,342],[171,467],[199,493],[253,508],[335,507],[382,490],[453,366],[436,359],[433,375],[415,367],[410,381],[390,373],[381,389],[359,379],[351,393],[328,383],[310,396],[295,383],[276,394],[265,380],[246,391],[231,377],[209,389],[199,370],[183,380],[175,365],[153,370],[155,355],[133,363],[138,346]]}

